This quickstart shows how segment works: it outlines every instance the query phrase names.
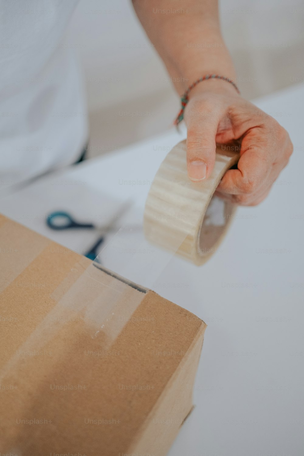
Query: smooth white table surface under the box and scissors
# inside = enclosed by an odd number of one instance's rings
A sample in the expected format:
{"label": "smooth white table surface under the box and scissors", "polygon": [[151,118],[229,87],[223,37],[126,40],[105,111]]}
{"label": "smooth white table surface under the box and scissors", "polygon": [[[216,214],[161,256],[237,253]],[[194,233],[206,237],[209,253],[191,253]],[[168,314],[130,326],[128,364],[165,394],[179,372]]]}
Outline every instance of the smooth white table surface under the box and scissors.
{"label": "smooth white table surface under the box and scissors", "polygon": [[[294,143],[290,163],[266,201],[238,209],[220,249],[201,268],[176,258],[167,264],[169,257],[157,254],[149,266],[159,264],[156,273],[142,273],[142,285],[155,285],[155,291],[208,324],[194,388],[196,408],[170,456],[304,453],[303,100],[304,85],[256,100]],[[79,220],[103,224],[133,197],[135,208],[124,221],[140,222],[160,162],[184,137],[185,130],[178,135],[172,129],[48,175],[2,197],[0,212],[82,253],[97,234],[51,231],[46,215],[64,209]],[[126,245],[128,236],[137,242],[136,233],[119,236]],[[118,258],[105,258],[107,266],[119,269]]]}

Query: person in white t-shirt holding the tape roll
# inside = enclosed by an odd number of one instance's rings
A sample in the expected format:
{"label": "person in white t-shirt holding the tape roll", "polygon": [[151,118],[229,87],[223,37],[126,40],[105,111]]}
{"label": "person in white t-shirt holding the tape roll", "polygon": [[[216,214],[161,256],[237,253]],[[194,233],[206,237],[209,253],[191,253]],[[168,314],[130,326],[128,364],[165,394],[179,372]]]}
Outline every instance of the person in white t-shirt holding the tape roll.
{"label": "person in white t-shirt holding the tape roll", "polygon": [[[73,50],[59,52],[76,4],[2,4],[0,178],[19,182],[73,163],[86,143],[85,97]],[[133,0],[133,6],[176,81],[176,92],[184,95],[181,117],[187,126],[190,179],[210,176],[216,143],[226,147],[238,142],[237,169],[226,172],[216,193],[239,205],[263,201],[293,146],[275,119],[238,93],[217,1]],[[186,92],[195,81],[200,82]]]}

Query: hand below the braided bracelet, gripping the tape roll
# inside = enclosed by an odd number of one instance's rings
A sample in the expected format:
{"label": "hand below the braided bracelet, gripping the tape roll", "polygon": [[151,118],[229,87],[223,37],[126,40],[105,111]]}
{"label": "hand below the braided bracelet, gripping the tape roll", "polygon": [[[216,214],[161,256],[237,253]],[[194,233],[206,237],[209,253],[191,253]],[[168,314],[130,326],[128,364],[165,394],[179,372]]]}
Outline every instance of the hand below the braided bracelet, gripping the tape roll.
{"label": "hand below the braided bracelet, gripping the tape roll", "polygon": [[227,145],[239,140],[237,169],[226,172],[216,194],[242,206],[259,204],[293,152],[287,131],[227,82],[202,82],[191,92],[184,115],[190,179],[201,181],[210,175],[216,143]]}

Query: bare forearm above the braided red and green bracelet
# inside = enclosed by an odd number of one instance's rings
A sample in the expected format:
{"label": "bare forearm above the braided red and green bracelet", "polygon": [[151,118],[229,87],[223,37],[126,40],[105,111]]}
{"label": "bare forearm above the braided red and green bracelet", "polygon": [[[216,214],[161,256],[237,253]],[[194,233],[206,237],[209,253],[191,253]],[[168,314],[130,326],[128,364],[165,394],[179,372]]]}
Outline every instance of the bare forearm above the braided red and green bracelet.
{"label": "bare forearm above the braided red and green bracelet", "polygon": [[204,74],[235,79],[216,0],[133,0],[133,4],[180,95]]}

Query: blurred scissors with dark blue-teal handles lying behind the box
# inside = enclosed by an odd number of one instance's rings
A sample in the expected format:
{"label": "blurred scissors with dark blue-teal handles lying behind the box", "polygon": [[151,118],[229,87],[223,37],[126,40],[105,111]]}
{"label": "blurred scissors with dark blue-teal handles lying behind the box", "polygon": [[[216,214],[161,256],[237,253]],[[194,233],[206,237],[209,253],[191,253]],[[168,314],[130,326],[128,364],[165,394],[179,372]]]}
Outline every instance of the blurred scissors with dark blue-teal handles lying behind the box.
{"label": "blurred scissors with dark blue-teal handles lying behind the box", "polygon": [[88,250],[84,255],[89,259],[96,259],[98,256],[98,247],[103,243],[105,235],[112,231],[115,228],[116,221],[121,218],[124,212],[129,209],[131,201],[124,203],[119,210],[115,212],[109,223],[102,227],[93,225],[93,223],[81,223],[77,222],[68,212],[65,211],[54,211],[51,212],[46,218],[46,225],[57,231],[66,230],[66,229],[96,229],[100,233],[100,237],[93,244],[91,249]]}

